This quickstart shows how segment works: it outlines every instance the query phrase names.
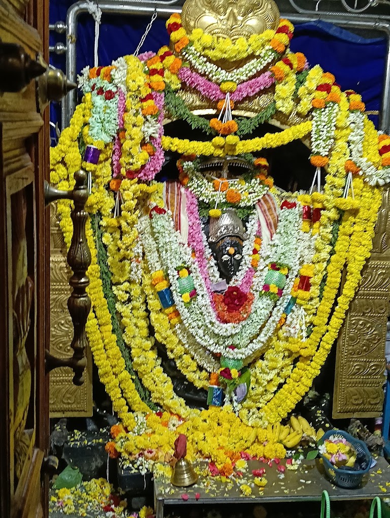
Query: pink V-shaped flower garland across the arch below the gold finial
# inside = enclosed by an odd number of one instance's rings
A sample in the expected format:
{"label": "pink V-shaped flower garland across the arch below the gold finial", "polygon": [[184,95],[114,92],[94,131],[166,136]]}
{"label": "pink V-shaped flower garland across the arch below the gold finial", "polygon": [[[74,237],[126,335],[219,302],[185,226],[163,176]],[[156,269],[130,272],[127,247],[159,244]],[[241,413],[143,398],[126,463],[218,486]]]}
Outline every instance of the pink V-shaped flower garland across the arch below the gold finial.
{"label": "pink V-shaped flower garland across the arch below the gold finial", "polygon": [[[225,93],[222,92],[218,84],[193,72],[189,67],[181,67],[178,72],[178,77],[188,87],[198,90],[201,95],[204,95],[212,101],[219,101],[225,97]],[[256,95],[261,90],[269,88],[273,83],[275,83],[275,77],[270,71],[267,71],[261,76],[239,84],[236,91],[230,94],[230,99],[239,102],[245,97]]]}

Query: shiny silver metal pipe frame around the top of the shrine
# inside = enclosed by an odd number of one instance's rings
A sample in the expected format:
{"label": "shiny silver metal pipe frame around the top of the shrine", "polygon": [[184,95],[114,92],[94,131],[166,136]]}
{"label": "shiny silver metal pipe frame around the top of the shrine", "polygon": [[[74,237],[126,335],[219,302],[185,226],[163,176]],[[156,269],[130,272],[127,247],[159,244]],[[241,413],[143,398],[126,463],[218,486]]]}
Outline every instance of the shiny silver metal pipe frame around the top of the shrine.
{"label": "shiny silver metal pipe frame around the top of the shrine", "polygon": [[[123,0],[122,0],[123,1]],[[176,0],[169,4],[175,3]],[[293,3],[293,0],[290,0]],[[168,2],[155,3],[151,0],[142,0],[142,5],[133,3],[121,3],[115,1],[106,0],[100,3],[99,7],[102,12],[109,14],[123,14],[127,16],[152,16],[156,10],[157,16],[161,18],[169,18],[174,12],[181,12],[181,7],[167,6]],[[77,70],[76,70],[76,41],[77,41],[77,22],[78,17],[82,13],[88,12],[89,3],[80,0],[76,4],[73,4],[66,17],[66,76],[71,81],[76,81]],[[300,8],[298,8],[300,9]],[[342,27],[349,27],[355,29],[369,29],[384,32],[387,36],[387,56],[385,66],[385,77],[384,77],[384,89],[382,96],[382,117],[380,121],[380,129],[388,132],[390,130],[390,22],[385,21],[381,18],[375,18],[371,16],[363,15],[348,15],[345,13],[342,17],[340,13],[328,13],[322,15],[319,13],[310,12],[310,16],[305,14],[283,14],[281,16],[288,18],[293,23],[305,23],[315,21],[325,21],[333,23],[334,25],[340,25]],[[68,93],[63,100],[62,105],[62,128],[68,126],[71,116],[76,107],[77,92],[75,90]]]}

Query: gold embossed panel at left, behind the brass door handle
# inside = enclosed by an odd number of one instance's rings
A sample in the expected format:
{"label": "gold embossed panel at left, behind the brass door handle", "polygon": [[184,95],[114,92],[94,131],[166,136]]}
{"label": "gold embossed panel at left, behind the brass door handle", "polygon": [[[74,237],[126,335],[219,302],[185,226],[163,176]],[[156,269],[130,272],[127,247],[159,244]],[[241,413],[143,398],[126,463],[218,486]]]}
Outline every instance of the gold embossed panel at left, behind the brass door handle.
{"label": "gold embossed panel at left, behind the brass door handle", "polygon": [[[67,358],[73,354],[70,342],[73,326],[67,308],[70,295],[71,271],[66,263],[66,251],[54,204],[50,208],[50,352]],[[50,373],[50,417],[89,417],[92,415],[92,354],[88,350],[85,382],[73,384],[70,368]]]}

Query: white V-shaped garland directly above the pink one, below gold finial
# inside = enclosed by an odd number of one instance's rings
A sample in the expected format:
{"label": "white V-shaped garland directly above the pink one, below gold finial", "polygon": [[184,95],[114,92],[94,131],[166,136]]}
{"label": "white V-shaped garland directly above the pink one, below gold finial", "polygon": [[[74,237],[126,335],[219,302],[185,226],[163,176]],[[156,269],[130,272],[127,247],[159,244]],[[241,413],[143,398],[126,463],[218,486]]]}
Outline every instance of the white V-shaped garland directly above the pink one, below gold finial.
{"label": "white V-shaped garland directly above the pink one, below gold finial", "polygon": [[191,63],[199,74],[220,84],[224,81],[234,81],[236,83],[247,81],[269,65],[276,58],[277,53],[271,46],[267,46],[262,50],[258,57],[246,63],[242,67],[230,71],[224,70],[214,63],[211,63],[205,56],[195,50],[192,45],[188,45],[182,51],[182,55],[185,60]]}

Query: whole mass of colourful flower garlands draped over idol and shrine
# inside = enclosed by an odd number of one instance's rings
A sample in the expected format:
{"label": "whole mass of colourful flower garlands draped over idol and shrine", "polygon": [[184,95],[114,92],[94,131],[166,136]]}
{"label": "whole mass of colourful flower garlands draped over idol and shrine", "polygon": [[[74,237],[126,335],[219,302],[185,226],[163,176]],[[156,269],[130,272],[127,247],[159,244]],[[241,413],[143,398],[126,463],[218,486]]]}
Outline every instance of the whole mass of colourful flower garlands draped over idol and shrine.
{"label": "whole mass of colourful flower garlands draped over idol and shrine", "polygon": [[[234,477],[241,461],[286,455],[280,422],[319,375],[370,255],[390,137],[358,94],[289,50],[286,20],[235,42],[199,28],[186,34],[178,14],[167,29],[170,48],[82,70],[83,100],[51,149],[51,182],[69,190],[80,167],[89,174],[86,333],[120,421],[108,453],[168,474],[184,434],[190,460],[207,458],[211,474]],[[244,62],[228,70],[224,60]],[[186,91],[205,99],[211,117],[191,113]],[[264,109],[252,119],[234,116],[257,99]],[[297,116],[280,132],[248,137],[273,117]],[[164,135],[168,117],[203,139]],[[312,189],[284,193],[260,155],[299,139],[311,147]],[[178,182],[154,181],[166,152],[182,155]],[[210,157],[233,157],[248,174],[203,174]],[[69,200],[57,211],[69,247]],[[236,262],[229,276],[218,249]],[[156,341],[207,391],[208,409],[178,396]],[[326,445],[336,464],[344,447]]]}

